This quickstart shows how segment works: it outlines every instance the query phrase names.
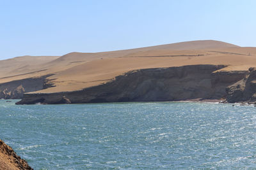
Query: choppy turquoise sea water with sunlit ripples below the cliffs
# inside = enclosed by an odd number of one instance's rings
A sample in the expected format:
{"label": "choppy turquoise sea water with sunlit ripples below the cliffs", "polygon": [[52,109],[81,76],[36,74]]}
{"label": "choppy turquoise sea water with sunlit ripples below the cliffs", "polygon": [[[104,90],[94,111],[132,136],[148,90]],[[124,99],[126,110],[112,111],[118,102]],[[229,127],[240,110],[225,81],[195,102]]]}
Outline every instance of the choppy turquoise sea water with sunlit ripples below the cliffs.
{"label": "choppy turquoise sea water with sunlit ripples below the cliffs", "polygon": [[34,169],[256,168],[253,106],[14,103],[0,138]]}

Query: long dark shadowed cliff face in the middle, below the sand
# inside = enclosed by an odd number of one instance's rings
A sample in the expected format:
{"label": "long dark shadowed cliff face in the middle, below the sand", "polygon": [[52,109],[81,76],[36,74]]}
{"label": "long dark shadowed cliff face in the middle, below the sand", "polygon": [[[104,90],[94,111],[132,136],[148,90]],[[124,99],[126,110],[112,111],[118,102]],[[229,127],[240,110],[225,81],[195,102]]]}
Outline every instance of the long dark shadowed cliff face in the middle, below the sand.
{"label": "long dark shadowed cliff face in the middle, below the sand", "polygon": [[247,73],[247,71],[214,72],[223,67],[225,66],[193,65],[140,69],[84,90],[24,94],[24,98],[17,104],[222,99],[227,95],[226,87],[243,79]]}

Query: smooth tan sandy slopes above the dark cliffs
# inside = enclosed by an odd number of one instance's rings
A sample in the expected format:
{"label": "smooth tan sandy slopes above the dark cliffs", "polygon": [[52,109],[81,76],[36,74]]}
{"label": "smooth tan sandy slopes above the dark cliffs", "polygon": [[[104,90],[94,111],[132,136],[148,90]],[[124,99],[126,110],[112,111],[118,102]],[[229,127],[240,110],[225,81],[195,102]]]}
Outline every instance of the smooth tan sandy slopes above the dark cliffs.
{"label": "smooth tan sandy slopes above the dark cliffs", "polygon": [[0,61],[0,83],[54,73],[56,87],[40,92],[80,90],[99,85],[133,69],[225,64],[225,70],[256,67],[256,48],[221,41],[188,41],[170,45],[61,57],[17,57]]}

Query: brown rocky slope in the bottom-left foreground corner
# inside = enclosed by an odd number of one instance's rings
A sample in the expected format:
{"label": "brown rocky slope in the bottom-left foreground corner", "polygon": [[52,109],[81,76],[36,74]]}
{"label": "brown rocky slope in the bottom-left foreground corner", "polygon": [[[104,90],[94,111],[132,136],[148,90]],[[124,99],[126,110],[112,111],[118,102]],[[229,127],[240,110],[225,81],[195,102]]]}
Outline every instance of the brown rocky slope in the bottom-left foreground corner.
{"label": "brown rocky slope in the bottom-left foreground corner", "polygon": [[26,160],[20,157],[13,151],[13,149],[0,140],[0,169],[1,170],[15,170],[15,169],[32,169]]}

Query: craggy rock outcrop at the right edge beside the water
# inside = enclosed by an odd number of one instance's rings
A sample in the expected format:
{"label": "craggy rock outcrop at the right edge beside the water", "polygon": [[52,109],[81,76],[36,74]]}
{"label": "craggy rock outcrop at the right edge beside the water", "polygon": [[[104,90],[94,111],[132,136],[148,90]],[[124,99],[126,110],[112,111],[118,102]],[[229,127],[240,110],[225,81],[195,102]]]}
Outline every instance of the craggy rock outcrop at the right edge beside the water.
{"label": "craggy rock outcrop at the right edge beside the water", "polygon": [[256,68],[250,68],[248,74],[227,87],[227,102],[256,102]]}

